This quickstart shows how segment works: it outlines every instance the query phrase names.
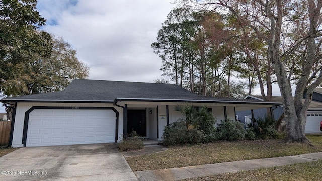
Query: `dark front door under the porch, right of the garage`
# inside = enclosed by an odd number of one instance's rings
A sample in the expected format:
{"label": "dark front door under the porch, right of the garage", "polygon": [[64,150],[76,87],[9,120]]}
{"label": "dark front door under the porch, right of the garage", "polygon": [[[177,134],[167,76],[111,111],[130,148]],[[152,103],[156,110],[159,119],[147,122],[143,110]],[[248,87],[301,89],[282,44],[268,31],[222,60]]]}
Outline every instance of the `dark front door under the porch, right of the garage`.
{"label": "dark front door under the porch, right of the garage", "polygon": [[127,134],[132,130],[140,136],[146,136],[146,110],[127,110]]}

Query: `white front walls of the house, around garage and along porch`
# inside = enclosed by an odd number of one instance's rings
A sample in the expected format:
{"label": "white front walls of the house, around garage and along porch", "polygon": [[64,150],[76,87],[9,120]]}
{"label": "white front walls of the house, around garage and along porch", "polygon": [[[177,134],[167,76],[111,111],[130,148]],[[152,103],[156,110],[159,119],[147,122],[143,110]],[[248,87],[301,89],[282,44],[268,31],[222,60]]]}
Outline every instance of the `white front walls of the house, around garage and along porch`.
{"label": "white front walls of the house, around garage and along porch", "polygon": [[[167,111],[166,105],[169,105],[169,124],[177,121],[179,118],[183,118],[181,112],[175,111],[174,106],[177,104],[187,104],[187,103],[175,103],[175,102],[118,102],[117,105],[124,106],[127,104],[128,109],[145,109],[147,108],[147,137],[150,139],[157,139],[157,126],[156,118],[158,117],[158,139],[160,140],[163,135],[164,127],[167,125]],[[190,103],[188,103],[190,104]],[[194,103],[193,106],[202,106],[202,103]],[[214,104],[208,104],[208,108],[212,108],[212,112],[217,119],[217,124],[224,119],[224,105],[213,106]],[[216,104],[217,105],[217,104]],[[113,106],[112,104],[103,103],[17,103],[16,118],[13,133],[13,147],[23,146],[22,137],[24,129],[24,119],[25,112],[33,106],[57,106],[57,107],[113,107],[119,112],[119,124],[118,124],[118,140],[122,140],[121,136],[123,134],[123,108]],[[158,115],[156,115],[156,108],[158,107]],[[152,114],[149,111],[152,110]],[[233,106],[226,106],[227,118],[234,120],[235,112]]]}

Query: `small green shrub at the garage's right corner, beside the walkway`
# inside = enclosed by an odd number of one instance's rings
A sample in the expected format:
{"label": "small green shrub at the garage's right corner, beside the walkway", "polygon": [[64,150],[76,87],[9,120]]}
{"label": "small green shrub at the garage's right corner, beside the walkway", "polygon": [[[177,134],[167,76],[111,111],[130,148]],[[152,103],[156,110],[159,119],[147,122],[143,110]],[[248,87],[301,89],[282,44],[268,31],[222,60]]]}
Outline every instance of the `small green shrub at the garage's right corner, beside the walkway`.
{"label": "small green shrub at the garage's right corner, beside the walkway", "polygon": [[136,131],[132,131],[129,135],[123,135],[122,142],[118,147],[120,151],[139,150],[144,148],[144,144]]}

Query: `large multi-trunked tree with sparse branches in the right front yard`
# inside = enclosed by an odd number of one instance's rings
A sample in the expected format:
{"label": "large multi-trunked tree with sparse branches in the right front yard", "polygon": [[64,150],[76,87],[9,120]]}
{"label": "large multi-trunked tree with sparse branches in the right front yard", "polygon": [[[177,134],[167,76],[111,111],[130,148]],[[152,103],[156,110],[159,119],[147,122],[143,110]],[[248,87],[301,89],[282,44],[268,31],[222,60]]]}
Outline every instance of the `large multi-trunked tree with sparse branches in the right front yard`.
{"label": "large multi-trunked tree with sparse branches in the right front yard", "polygon": [[[322,0],[211,0],[202,8],[234,16],[240,25],[252,29],[267,44],[283,98],[287,121],[287,142],[310,143],[305,137],[306,112],[313,90],[322,82]],[[296,85],[295,96],[291,85]],[[307,90],[303,99],[303,92]]]}

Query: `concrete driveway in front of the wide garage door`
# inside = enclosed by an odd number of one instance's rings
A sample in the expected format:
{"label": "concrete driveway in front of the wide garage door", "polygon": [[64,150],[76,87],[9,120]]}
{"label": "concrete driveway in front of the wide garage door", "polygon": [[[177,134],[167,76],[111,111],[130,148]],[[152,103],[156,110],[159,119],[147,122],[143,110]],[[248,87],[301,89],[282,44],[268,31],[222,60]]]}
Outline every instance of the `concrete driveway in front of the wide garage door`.
{"label": "concrete driveway in front of the wide garage door", "polygon": [[0,180],[137,180],[116,144],[24,147],[0,157]]}

